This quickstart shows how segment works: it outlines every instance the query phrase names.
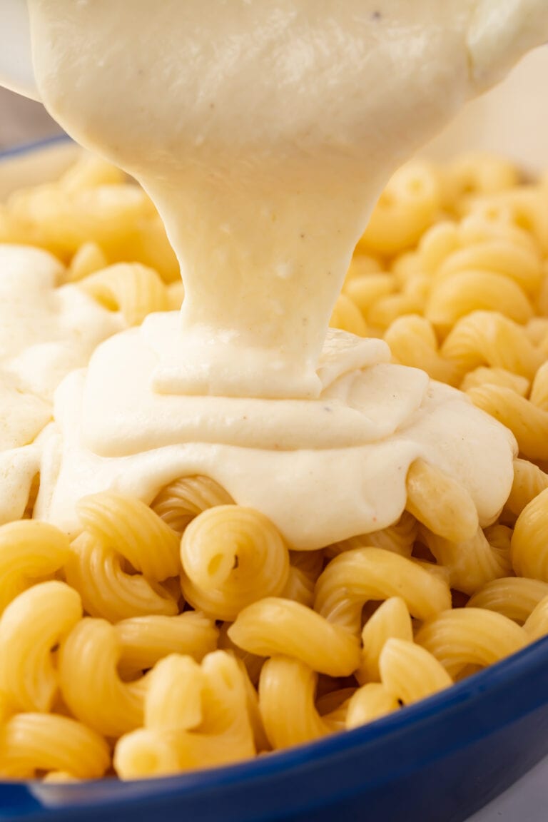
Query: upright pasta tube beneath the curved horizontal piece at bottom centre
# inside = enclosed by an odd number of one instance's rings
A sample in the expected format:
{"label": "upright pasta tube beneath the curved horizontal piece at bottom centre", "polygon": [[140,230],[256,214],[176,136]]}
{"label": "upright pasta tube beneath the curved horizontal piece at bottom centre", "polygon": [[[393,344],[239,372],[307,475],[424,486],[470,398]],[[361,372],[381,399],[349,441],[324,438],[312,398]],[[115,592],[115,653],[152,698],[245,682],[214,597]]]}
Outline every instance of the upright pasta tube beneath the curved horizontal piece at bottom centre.
{"label": "upright pasta tube beneath the curved horizontal piece at bottom centre", "polygon": [[315,707],[318,675],[306,663],[285,656],[267,660],[260,673],[259,705],[274,750],[302,745],[329,734]]}

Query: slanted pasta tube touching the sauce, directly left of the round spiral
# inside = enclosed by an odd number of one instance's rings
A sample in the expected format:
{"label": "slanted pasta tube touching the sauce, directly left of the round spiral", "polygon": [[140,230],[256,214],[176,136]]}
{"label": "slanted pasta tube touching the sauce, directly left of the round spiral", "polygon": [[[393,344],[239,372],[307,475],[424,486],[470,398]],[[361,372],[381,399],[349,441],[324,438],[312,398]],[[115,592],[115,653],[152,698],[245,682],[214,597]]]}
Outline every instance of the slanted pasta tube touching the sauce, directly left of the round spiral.
{"label": "slanted pasta tube touching the sauce, directly left of the round spiral", "polygon": [[166,580],[179,566],[179,538],[144,502],[104,492],[86,496],[76,506],[85,529],[98,543],[113,548],[146,577]]}

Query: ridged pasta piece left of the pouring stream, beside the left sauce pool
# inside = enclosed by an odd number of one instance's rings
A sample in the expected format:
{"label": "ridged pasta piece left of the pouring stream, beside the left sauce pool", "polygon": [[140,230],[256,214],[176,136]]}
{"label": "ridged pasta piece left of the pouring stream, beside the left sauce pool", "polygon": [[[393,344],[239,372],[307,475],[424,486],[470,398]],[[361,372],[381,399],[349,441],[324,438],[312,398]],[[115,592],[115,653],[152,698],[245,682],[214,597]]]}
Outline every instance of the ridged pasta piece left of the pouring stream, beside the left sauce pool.
{"label": "ridged pasta piece left of the pouring stream, beside the left sauce pool", "polygon": [[159,275],[140,263],[120,262],[95,271],[78,287],[111,311],[122,313],[128,326],[138,326],[147,314],[168,310],[168,289]]}

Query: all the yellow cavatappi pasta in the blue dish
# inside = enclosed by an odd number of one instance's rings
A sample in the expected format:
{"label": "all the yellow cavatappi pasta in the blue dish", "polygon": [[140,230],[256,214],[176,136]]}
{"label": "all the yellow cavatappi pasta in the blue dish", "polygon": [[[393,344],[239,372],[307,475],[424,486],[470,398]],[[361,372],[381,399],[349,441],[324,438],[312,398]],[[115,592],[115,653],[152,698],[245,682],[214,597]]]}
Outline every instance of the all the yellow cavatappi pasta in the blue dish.
{"label": "all the yellow cavatappi pasta in the blue dish", "polygon": [[[124,326],[184,298],[150,200],[86,157],[0,206],[0,242],[58,256]],[[0,776],[145,778],[404,709],[548,635],[548,187],[505,159],[389,183],[331,325],[465,391],[520,453],[498,519],[417,459],[397,522],[311,552],[213,479],[104,492],[68,538],[0,527]],[[452,607],[458,606],[458,607]]]}

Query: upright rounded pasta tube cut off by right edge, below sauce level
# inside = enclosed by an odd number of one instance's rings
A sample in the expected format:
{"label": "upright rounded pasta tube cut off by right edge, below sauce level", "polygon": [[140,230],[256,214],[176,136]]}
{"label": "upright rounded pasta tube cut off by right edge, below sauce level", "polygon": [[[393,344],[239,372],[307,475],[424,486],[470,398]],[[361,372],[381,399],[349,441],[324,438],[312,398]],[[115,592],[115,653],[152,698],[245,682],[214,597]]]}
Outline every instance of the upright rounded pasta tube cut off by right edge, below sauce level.
{"label": "upright rounded pasta tube cut off by right edge, below sauce level", "polygon": [[519,576],[548,582],[548,489],[518,516],[512,536],[512,565]]}

